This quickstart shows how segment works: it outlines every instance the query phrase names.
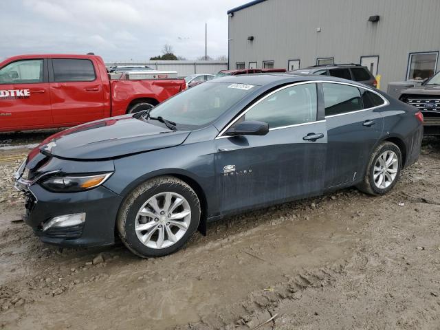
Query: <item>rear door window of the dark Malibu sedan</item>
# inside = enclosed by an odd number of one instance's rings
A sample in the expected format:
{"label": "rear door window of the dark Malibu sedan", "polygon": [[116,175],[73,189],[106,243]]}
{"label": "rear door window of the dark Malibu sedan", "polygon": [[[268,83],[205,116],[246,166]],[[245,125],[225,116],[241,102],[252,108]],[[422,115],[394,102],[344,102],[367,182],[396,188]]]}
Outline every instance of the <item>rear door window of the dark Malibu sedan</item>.
{"label": "rear door window of the dark Malibu sedan", "polygon": [[339,115],[362,110],[362,98],[358,87],[322,83],[324,89],[325,115]]}

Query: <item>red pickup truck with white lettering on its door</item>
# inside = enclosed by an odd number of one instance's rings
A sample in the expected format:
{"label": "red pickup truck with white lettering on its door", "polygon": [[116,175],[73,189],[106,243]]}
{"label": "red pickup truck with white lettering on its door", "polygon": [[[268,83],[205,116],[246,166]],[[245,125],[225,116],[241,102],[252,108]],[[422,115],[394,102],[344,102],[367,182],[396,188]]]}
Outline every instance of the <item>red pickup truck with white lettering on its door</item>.
{"label": "red pickup truck with white lettering on its door", "polygon": [[112,80],[95,55],[22,55],[0,63],[0,132],[75,126],[148,109],[184,79]]}

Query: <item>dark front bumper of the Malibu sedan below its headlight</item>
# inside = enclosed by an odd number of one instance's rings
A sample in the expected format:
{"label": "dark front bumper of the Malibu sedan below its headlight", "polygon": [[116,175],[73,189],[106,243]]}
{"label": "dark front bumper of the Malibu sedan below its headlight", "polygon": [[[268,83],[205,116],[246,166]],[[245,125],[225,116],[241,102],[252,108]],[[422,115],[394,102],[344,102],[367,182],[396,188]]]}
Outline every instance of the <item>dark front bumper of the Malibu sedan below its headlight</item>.
{"label": "dark front bumper of the Malibu sedan below its headlight", "polygon": [[[115,219],[122,197],[100,186],[84,192],[55,193],[34,184],[26,192],[25,223],[45,243],[66,247],[110,245],[115,241]],[[85,222],[65,228],[43,224],[65,214],[85,213]]]}

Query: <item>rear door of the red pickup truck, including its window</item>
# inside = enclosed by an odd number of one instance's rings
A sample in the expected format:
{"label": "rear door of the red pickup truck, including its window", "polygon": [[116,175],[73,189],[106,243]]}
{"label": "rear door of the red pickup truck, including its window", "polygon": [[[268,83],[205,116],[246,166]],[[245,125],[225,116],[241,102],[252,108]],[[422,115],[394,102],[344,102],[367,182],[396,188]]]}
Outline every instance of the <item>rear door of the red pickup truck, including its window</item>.
{"label": "rear door of the red pickup truck, including its window", "polygon": [[85,58],[49,61],[50,98],[54,123],[79,124],[107,117],[104,90],[96,62]]}

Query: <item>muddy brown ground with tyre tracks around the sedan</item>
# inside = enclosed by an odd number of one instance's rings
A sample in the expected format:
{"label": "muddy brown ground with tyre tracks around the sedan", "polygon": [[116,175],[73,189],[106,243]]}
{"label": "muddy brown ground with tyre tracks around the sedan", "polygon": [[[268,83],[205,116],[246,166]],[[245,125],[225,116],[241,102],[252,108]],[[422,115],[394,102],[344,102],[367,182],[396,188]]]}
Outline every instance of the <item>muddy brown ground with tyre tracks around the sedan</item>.
{"label": "muddy brown ground with tyre tracks around the sedan", "polygon": [[[0,329],[440,329],[440,140],[384,197],[355,188],[211,223],[184,250],[59,249],[20,221],[0,144]],[[11,141],[8,141],[11,140]]]}

